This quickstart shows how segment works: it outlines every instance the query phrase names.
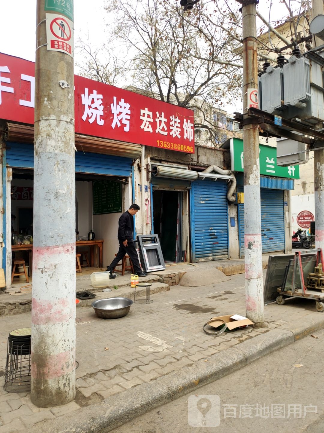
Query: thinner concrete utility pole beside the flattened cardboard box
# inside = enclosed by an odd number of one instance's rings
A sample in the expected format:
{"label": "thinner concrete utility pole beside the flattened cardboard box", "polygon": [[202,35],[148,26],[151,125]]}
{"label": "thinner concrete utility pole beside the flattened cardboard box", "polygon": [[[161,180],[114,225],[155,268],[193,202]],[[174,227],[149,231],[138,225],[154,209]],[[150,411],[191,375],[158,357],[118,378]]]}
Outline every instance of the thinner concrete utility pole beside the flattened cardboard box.
{"label": "thinner concrete utility pole beside the flattened cardboard box", "polygon": [[[248,89],[258,89],[256,1],[243,0],[243,119],[248,113]],[[246,316],[264,322],[261,243],[259,131],[257,125],[243,127],[244,144],[244,246]]]}

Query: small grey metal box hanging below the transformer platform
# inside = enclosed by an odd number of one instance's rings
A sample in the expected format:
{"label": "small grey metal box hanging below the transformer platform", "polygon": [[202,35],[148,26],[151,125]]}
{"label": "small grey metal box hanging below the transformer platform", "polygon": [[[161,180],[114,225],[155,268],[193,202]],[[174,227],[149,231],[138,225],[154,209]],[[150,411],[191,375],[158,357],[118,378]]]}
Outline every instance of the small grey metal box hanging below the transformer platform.
{"label": "small grey metal box hanging below the transformer platform", "polygon": [[290,139],[277,141],[277,165],[289,167],[289,165],[304,164],[307,156],[305,143]]}

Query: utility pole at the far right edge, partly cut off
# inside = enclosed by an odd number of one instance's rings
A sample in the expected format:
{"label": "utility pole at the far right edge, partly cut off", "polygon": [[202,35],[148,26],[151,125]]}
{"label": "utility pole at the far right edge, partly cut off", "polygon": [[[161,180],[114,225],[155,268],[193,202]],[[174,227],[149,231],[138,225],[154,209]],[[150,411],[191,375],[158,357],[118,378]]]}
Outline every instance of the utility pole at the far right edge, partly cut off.
{"label": "utility pole at the far right edge, partly cut off", "polygon": [[[312,18],[323,15],[323,0],[312,0]],[[315,38],[316,46],[323,44]],[[318,52],[321,55],[320,52]],[[323,123],[320,124],[322,127]],[[324,251],[324,150],[314,151],[315,243]]]}

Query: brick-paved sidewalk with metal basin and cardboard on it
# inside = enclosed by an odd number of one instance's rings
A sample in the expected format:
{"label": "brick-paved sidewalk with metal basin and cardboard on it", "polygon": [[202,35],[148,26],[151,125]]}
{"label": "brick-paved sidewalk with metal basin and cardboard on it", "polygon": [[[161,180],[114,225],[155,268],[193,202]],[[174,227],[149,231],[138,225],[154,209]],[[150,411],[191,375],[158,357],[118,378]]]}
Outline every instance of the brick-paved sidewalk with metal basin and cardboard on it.
{"label": "brick-paved sidewalk with metal basin and cardboard on it", "polygon": [[[151,296],[152,304],[133,304],[121,319],[98,319],[92,308],[81,308],[77,323],[76,400],[61,407],[40,409],[28,393],[3,391],[0,379],[0,433],[24,431],[80,407],[192,365],[272,328],[303,317],[317,316],[314,301],[292,299],[265,307],[267,328],[252,327],[223,333],[203,333],[202,326],[213,316],[245,315],[244,274],[210,286],[184,288]],[[6,363],[6,340],[10,330],[31,324],[30,313],[0,317],[0,370]]]}

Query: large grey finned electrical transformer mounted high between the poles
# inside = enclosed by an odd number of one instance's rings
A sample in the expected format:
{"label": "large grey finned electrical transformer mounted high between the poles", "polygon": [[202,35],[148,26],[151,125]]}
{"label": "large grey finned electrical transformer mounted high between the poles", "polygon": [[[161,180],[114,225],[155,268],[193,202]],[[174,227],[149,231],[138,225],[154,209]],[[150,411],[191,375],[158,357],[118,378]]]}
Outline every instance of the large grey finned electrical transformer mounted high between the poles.
{"label": "large grey finned electrical transformer mounted high between the poles", "polygon": [[298,118],[306,125],[324,121],[324,89],[319,55],[300,56],[293,50],[288,60],[278,58],[278,65],[265,65],[259,74],[261,110],[282,116]]}

